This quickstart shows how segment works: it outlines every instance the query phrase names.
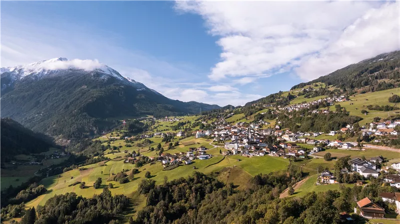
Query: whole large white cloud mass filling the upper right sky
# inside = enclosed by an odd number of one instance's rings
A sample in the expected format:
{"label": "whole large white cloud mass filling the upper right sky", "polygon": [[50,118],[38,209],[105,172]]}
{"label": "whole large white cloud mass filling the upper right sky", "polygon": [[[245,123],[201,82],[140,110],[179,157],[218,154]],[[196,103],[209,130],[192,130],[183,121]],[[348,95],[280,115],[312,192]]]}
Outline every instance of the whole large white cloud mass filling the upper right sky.
{"label": "whole large white cloud mass filling the upper right sky", "polygon": [[[211,68],[210,79],[244,77],[243,81],[254,82],[256,79],[253,77],[279,74],[298,66],[300,77],[308,80],[315,78],[316,73],[325,75],[346,66],[346,63],[360,60],[363,54],[370,57],[398,49],[394,41],[398,37],[398,7],[393,2],[382,4],[380,1],[359,0],[177,0],[175,8],[201,15],[210,34],[220,38],[217,44],[222,48],[221,61]],[[388,11],[392,13],[386,14]],[[383,43],[385,35],[390,38],[387,43]],[[351,45],[356,40],[360,42]],[[379,42],[385,46],[375,44]],[[312,71],[318,64],[316,58],[326,58],[321,56],[325,49],[328,49],[326,55],[335,53],[338,45],[341,49],[337,51],[338,55],[343,54],[340,63],[326,61],[330,65],[321,63]],[[253,79],[246,80],[248,77]]]}

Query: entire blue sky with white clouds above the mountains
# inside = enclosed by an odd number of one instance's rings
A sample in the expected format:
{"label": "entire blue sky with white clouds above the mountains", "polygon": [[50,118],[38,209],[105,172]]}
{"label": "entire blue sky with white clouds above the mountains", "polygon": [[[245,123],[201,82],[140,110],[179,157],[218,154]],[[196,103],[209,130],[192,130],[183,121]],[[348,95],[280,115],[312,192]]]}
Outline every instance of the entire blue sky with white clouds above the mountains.
{"label": "entire blue sky with white clouds above the mountains", "polygon": [[400,49],[398,1],[2,0],[0,17],[0,67],[94,60],[220,106]]}

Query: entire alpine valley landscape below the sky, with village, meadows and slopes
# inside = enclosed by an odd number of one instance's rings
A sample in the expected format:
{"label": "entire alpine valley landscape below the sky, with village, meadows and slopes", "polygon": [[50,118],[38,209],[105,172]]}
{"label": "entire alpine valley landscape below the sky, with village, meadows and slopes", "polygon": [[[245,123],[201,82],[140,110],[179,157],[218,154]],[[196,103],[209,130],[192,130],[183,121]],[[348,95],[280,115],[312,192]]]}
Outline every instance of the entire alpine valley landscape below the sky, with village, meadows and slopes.
{"label": "entire alpine valley landscape below the sky, with village, meadows and slopes", "polygon": [[[47,71],[33,84],[32,90],[47,88],[37,96],[25,96],[32,84],[23,67],[4,72],[3,79],[19,81],[1,90],[0,103],[24,107],[1,112],[33,131],[1,119],[0,202],[7,209],[0,221],[19,222],[34,208],[40,222],[51,223],[65,206],[57,197],[101,201],[95,207],[107,215],[91,220],[100,223],[210,223],[215,217],[223,223],[283,224],[293,217],[329,223],[343,212],[366,223],[374,219],[365,219],[358,203],[367,199],[383,208],[380,218],[399,221],[396,203],[384,201],[386,194],[400,194],[400,77],[393,58],[397,52],[376,64],[352,65],[362,71],[345,69],[224,108],[167,99],[109,67],[72,69],[65,77]],[[374,74],[384,79],[372,78],[370,67],[381,68]],[[335,78],[356,73],[370,85],[347,87]],[[52,86],[72,83],[65,90]],[[55,97],[44,104],[47,94]],[[48,107],[57,110],[42,113]],[[59,139],[68,144],[55,144]],[[117,208],[108,208],[111,202]],[[70,205],[71,215],[57,222],[85,220],[77,214],[94,208]],[[322,205],[330,208],[325,215],[312,211]],[[296,207],[301,212],[292,218],[276,213]]]}

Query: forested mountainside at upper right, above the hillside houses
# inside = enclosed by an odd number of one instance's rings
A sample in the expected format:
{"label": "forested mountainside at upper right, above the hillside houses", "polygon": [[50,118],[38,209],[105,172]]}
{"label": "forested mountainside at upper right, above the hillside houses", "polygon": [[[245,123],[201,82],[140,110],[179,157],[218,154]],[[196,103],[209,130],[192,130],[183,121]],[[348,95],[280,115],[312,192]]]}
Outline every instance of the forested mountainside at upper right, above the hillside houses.
{"label": "forested mountainside at upper right, above the hillside houses", "polygon": [[[331,74],[321,76],[318,79],[307,83],[300,83],[291,88],[306,88],[307,86],[316,86],[324,83],[330,86],[331,90],[321,88],[317,91],[311,90],[300,93],[306,95],[307,98],[347,93],[352,95],[356,92],[367,93],[386,89],[392,89],[400,86],[400,51],[380,54],[376,57],[363,60],[356,64],[351,64],[345,68],[339,69]],[[300,96],[283,94],[283,92],[271,94],[267,97],[247,103],[245,106],[254,104],[288,104],[290,100]]]}

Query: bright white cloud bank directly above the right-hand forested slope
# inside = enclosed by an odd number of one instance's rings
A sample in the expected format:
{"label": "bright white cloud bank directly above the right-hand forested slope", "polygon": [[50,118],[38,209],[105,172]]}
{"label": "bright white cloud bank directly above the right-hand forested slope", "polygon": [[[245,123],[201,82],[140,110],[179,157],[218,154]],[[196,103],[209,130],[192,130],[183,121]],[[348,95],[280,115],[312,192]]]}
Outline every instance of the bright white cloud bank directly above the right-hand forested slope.
{"label": "bright white cloud bank directly above the right-hand forested slope", "polygon": [[400,49],[399,2],[371,9],[319,54],[313,55],[299,68],[304,80],[313,80],[349,64],[381,53]]}

